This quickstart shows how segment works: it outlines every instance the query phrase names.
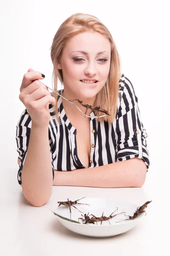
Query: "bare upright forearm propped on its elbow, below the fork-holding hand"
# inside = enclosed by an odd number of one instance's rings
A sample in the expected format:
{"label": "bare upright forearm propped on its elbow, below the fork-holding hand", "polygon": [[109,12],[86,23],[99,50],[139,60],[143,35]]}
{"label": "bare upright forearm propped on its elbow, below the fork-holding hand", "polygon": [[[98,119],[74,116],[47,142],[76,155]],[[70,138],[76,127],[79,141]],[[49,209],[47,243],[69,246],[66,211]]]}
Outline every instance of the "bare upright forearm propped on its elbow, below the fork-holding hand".
{"label": "bare upright forearm propped on its elbow, below the fork-holding hand", "polygon": [[42,206],[51,197],[52,185],[48,126],[37,128],[32,125],[22,170],[23,194],[32,205]]}

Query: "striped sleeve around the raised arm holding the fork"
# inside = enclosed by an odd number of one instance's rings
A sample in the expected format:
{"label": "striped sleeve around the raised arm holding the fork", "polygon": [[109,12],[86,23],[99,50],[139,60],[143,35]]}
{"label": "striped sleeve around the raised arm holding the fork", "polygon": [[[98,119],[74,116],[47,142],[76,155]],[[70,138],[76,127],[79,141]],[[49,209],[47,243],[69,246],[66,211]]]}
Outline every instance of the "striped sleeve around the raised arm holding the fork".
{"label": "striped sleeve around the raised arm holding the fork", "polygon": [[[22,170],[23,170],[23,166],[27,156],[29,138],[31,133],[31,126],[30,126],[30,123],[28,122],[29,118],[30,117],[28,112],[27,111],[23,112],[16,126],[17,152],[19,154],[18,159],[20,160],[19,170],[17,173],[17,180],[20,186],[22,186]],[[50,151],[50,154],[51,154],[51,165],[52,165],[52,173],[53,173],[53,180],[54,180],[54,158],[53,158],[52,151]]]}

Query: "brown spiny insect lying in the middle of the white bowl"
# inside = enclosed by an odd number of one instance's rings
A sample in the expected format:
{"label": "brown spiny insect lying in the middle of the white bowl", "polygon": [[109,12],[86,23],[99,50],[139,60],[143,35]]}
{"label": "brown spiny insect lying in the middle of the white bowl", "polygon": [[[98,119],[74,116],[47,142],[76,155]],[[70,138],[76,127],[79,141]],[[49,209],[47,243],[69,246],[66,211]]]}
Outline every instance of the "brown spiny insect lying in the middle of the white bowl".
{"label": "brown spiny insect lying in the middle of the white bowl", "polygon": [[[116,208],[117,208],[117,207],[116,207]],[[118,210],[118,208],[117,208],[114,212],[116,212],[117,210]],[[87,224],[87,223],[93,223],[93,224],[94,224],[94,222],[96,222],[96,224],[97,224],[97,222],[99,222],[99,221],[101,221],[101,225],[102,225],[102,221],[108,221],[109,224],[111,224],[110,221],[109,221],[111,218],[115,217],[116,215],[125,213],[125,212],[120,212],[120,213],[118,213],[118,214],[113,215],[114,212],[112,212],[109,217],[106,217],[106,216],[104,215],[104,212],[102,212],[102,216],[101,216],[101,217],[96,217],[96,216],[93,215],[93,214],[90,214],[89,216],[86,215],[86,214],[83,216],[83,215],[81,214],[82,217],[84,217],[84,219],[83,219],[83,218],[79,218],[79,219],[81,219],[82,221],[85,221],[84,224]],[[89,214],[89,213],[88,213],[88,214]],[[92,216],[92,217],[90,218],[90,216]]]}

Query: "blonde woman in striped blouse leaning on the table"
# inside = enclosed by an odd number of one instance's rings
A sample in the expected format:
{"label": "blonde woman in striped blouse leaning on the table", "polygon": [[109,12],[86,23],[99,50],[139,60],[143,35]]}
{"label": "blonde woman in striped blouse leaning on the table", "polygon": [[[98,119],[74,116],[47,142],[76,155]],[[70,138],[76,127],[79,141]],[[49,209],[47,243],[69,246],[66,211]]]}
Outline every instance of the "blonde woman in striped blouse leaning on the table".
{"label": "blonde woman in striped blouse leaning on the table", "polygon": [[[104,113],[88,109],[91,117],[85,117],[49,93],[39,81],[44,75],[29,69],[20,87],[26,109],[16,136],[18,182],[26,199],[42,206],[53,185],[141,187],[149,168],[147,134],[111,33],[93,15],[71,15],[54,36],[51,59],[55,91],[59,79],[64,89],[57,92],[63,97],[111,115],[93,118]],[[85,113],[78,101],[73,103]]]}

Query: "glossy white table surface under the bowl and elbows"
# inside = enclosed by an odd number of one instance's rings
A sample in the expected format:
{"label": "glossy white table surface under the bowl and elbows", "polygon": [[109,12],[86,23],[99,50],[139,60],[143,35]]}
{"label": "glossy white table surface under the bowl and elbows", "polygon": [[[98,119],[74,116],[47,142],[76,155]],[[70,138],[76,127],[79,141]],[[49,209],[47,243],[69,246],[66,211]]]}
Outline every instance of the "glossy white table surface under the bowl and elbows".
{"label": "glossy white table surface under the bowl and elbows", "polygon": [[[110,197],[139,206],[153,200],[132,230],[110,238],[88,238],[67,230],[49,209],[67,198]],[[53,186],[50,200],[33,207],[17,182],[17,169],[0,169],[0,256],[153,256],[170,255],[169,212],[159,187],[89,188]],[[169,202],[167,202],[169,204]],[[48,209],[49,208],[49,209]]]}

